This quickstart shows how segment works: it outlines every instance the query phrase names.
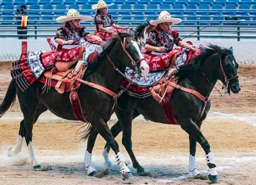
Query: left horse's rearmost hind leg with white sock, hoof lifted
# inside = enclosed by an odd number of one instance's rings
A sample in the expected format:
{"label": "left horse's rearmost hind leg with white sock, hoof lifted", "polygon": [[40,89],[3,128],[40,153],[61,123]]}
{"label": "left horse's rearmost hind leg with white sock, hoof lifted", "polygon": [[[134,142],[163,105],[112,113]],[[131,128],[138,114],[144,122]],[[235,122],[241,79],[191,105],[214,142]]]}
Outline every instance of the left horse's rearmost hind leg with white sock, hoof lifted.
{"label": "left horse's rearmost hind leg with white sock, hoof lifted", "polygon": [[[38,109],[36,112],[35,122],[38,119],[38,117],[41,115],[41,113],[45,112],[47,109],[44,107],[41,107],[41,109]],[[24,120],[21,121],[19,124],[19,135],[17,137],[17,142],[14,147],[10,147],[7,153],[8,157],[16,156],[21,152],[22,149],[22,143],[25,136],[25,127],[24,127]]]}

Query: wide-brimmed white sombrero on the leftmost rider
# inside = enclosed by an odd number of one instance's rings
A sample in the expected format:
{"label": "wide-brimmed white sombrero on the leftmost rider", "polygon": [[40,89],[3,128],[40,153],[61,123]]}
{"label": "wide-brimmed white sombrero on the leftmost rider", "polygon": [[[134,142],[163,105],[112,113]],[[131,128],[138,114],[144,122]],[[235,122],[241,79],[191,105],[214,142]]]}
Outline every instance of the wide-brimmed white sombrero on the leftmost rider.
{"label": "wide-brimmed white sombrero on the leftmost rider", "polygon": [[76,19],[79,19],[80,21],[89,21],[92,19],[92,17],[79,15],[77,10],[69,9],[66,16],[59,16],[58,18],[56,18],[56,21],[59,23],[65,23]]}

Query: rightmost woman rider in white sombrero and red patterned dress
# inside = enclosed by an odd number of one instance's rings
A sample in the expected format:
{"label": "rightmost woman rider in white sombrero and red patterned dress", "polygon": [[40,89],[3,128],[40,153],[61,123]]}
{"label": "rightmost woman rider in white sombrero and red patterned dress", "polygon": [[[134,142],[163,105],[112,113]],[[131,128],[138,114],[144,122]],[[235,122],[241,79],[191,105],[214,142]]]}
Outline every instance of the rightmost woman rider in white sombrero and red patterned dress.
{"label": "rightmost woman rider in white sombrero and red patterned dress", "polygon": [[[170,61],[172,62],[171,66],[176,65],[178,67],[183,65],[185,59],[187,59],[183,55],[186,49],[198,52],[198,49],[192,43],[182,42],[177,30],[171,30],[172,25],[178,24],[181,21],[181,19],[172,18],[167,11],[162,11],[159,14],[158,20],[149,21],[152,26],[155,26],[154,30],[149,32],[144,46],[146,50],[144,57],[149,64],[150,71],[166,69],[169,67]],[[174,44],[185,49],[173,49]],[[180,57],[175,60],[178,55]]]}

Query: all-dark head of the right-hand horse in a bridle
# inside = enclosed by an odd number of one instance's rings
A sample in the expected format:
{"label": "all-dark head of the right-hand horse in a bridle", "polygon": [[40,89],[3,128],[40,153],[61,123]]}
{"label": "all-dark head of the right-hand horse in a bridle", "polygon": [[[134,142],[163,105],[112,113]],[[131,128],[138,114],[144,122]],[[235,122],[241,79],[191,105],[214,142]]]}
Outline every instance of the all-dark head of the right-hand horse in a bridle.
{"label": "all-dark head of the right-hand horse in a bridle", "polygon": [[230,91],[238,93],[241,90],[237,75],[238,63],[233,55],[232,47],[227,49],[226,53],[220,58],[221,75],[219,80],[222,81],[223,87],[227,89],[229,94]]}

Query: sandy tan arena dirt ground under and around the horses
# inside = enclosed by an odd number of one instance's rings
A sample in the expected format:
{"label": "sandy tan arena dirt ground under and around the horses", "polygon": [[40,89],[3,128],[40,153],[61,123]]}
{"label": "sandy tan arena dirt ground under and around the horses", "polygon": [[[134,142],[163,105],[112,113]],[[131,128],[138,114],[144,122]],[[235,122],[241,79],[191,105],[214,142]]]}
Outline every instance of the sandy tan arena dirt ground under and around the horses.
{"label": "sandy tan arena dirt ground under and around the horses", "polygon": [[[11,80],[11,63],[0,63],[0,100]],[[220,184],[256,184],[256,66],[240,66],[241,92],[221,97],[214,90],[211,112],[202,125],[202,132],[211,144]],[[221,89],[217,85],[218,89]],[[15,145],[19,122],[19,104],[0,119],[0,184],[210,184],[208,179],[192,179],[188,174],[188,135],[179,127],[148,122],[142,117],[133,125],[133,148],[138,160],[151,174],[122,180],[117,166],[102,178],[89,177],[83,166],[86,142],[79,142],[78,123],[58,119],[46,112],[34,126],[33,142],[44,170],[32,169],[24,143],[21,154],[7,157]],[[117,121],[112,116],[109,126]],[[121,152],[128,158],[117,137]],[[98,171],[106,171],[101,156],[104,140],[98,137],[92,162]],[[197,165],[207,173],[204,152],[197,147]],[[111,159],[114,154],[111,152]]]}

